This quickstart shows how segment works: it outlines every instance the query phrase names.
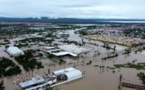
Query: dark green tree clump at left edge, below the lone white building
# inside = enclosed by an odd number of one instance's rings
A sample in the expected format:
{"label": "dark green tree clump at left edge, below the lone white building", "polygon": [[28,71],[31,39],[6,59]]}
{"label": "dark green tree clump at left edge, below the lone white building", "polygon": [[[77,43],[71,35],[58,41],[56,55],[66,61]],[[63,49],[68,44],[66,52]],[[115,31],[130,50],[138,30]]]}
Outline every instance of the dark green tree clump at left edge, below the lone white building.
{"label": "dark green tree clump at left edge, below the lone white building", "polygon": [[15,65],[15,63],[12,62],[12,60],[9,60],[7,58],[1,58],[0,60],[0,77],[2,76],[11,76],[14,74],[21,73],[20,67]]}

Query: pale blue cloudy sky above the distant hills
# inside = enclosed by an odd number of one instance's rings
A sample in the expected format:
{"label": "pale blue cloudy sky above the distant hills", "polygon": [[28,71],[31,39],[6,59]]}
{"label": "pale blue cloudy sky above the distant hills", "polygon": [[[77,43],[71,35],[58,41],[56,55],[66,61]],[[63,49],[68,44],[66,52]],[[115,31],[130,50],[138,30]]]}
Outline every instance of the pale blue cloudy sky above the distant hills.
{"label": "pale blue cloudy sky above the distant hills", "polygon": [[0,17],[145,19],[145,0],[0,0]]}

